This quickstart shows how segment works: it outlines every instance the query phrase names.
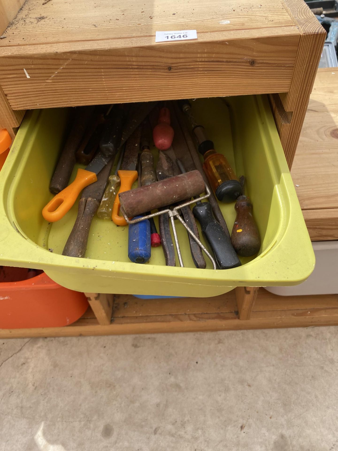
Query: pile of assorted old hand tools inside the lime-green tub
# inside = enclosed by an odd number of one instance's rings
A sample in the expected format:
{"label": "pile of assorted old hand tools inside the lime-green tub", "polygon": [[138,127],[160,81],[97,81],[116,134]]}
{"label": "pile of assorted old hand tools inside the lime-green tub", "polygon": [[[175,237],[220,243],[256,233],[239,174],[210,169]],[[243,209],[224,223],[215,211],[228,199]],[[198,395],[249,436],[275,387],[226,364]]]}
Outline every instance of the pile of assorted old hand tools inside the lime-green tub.
{"label": "pile of assorted old hand tools inside the lime-green tub", "polygon": [[[259,251],[260,235],[252,204],[244,195],[244,177],[239,180],[225,156],[215,151],[189,101],[163,105],[144,102],[73,109],[69,135],[50,182],[55,197],[42,211],[47,221],[59,221],[83,189],[63,255],[85,256],[96,213],[117,226],[128,225],[128,257],[135,263],[148,262],[151,247],[162,244],[165,264],[175,266],[177,254],[179,265],[184,266],[175,222],[187,230],[196,268],[206,268],[203,252],[214,269],[223,270],[240,266],[238,255],[248,257]],[[159,151],[156,165],[152,141]],[[118,153],[115,173],[110,175]],[[87,167],[78,169],[67,186],[75,161]],[[132,189],[137,179],[138,187]],[[236,201],[231,238],[216,198]],[[201,242],[196,220],[207,246]]]}

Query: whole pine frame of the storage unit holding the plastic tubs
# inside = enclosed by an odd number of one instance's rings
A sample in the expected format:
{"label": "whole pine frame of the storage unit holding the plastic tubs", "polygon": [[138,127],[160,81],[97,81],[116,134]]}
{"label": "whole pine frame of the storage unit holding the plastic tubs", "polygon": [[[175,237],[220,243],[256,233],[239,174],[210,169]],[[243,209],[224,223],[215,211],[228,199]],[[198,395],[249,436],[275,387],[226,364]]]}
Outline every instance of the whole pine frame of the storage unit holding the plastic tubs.
{"label": "whole pine frame of the storage unit holding the plastic tubs", "polygon": [[[183,28],[196,29],[198,39],[155,43],[156,31]],[[267,93],[290,168],[326,36],[303,0],[0,0],[2,32],[0,127],[13,137],[28,108]],[[323,114],[309,116],[292,170],[315,239],[338,239],[332,170],[338,127],[332,117],[325,128],[320,121],[329,116],[318,105],[330,96],[329,75],[325,91],[316,81],[310,112]],[[335,108],[331,97],[329,108]],[[110,324],[109,299],[92,295],[95,315],[89,309],[71,326],[2,330],[0,336],[338,324],[338,295],[280,297],[248,287],[210,299],[116,295]]]}

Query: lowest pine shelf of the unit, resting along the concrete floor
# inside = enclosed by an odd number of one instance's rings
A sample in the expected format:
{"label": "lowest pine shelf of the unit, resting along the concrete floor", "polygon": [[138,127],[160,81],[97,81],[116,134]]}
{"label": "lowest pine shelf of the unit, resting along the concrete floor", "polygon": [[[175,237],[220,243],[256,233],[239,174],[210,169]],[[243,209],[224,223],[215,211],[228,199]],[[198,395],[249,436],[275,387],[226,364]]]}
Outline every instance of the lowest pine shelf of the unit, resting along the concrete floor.
{"label": "lowest pine shelf of the unit, resting along the concrete floor", "polygon": [[121,335],[338,325],[338,295],[276,296],[260,288],[251,319],[238,315],[235,291],[214,298],[137,299],[115,295],[112,322],[91,308],[67,327],[0,330],[1,338]]}

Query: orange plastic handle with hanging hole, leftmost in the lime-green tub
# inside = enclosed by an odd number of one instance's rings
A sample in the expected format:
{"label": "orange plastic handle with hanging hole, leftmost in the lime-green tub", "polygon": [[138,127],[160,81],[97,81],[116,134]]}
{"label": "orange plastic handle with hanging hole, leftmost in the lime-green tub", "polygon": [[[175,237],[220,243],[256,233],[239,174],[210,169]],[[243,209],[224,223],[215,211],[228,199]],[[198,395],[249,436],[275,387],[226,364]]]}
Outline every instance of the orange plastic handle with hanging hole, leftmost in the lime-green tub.
{"label": "orange plastic handle with hanging hole, leftmost in the lime-green tub", "polygon": [[59,221],[73,207],[82,189],[96,180],[95,172],[78,169],[75,180],[47,203],[42,210],[42,216],[49,222]]}

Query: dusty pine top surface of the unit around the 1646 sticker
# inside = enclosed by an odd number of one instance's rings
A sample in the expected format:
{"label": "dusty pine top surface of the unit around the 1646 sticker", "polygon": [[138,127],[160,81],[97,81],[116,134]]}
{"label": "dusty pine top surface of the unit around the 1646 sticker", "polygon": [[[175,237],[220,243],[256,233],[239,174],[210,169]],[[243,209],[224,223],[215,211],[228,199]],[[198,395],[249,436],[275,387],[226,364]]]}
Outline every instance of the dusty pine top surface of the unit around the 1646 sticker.
{"label": "dusty pine top surface of the unit around the 1646 sticker", "polygon": [[[6,4],[22,0],[1,0]],[[7,42],[15,54],[49,53],[61,44],[63,51],[160,46],[155,31],[197,29],[198,40],[219,41],[274,36],[283,28],[295,28],[294,20],[279,0],[242,2],[233,0],[26,0],[25,5],[6,30]],[[267,31],[263,31],[267,30]],[[288,33],[285,33],[288,34]],[[5,40],[4,40],[5,41]],[[52,47],[50,47],[52,46]]]}

